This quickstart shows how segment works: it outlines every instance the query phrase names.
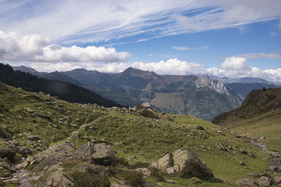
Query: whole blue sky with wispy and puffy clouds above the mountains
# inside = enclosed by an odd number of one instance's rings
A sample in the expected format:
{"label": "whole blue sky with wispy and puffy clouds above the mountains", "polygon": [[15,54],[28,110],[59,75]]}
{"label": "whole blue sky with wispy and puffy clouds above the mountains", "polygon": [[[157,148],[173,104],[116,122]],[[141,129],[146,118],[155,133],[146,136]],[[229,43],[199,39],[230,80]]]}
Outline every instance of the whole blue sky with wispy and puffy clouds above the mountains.
{"label": "whole blue sky with wispy and puffy clouds above the mountains", "polygon": [[0,0],[0,61],[281,82],[280,0]]}

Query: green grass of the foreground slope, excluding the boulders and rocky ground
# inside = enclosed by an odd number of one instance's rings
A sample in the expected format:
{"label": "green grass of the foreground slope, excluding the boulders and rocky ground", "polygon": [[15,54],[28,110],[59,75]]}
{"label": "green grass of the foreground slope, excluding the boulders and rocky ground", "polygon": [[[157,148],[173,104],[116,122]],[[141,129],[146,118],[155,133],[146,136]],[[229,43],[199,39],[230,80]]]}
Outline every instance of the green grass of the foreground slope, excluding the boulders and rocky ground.
{"label": "green grass of the foreground slope, excluding the boulders and rocky ground", "polygon": [[[46,99],[50,101],[46,102]],[[0,117],[0,127],[16,136],[16,141],[25,146],[30,145],[25,143],[27,137],[20,135],[22,132],[36,134],[41,141],[51,145],[63,141],[72,131],[77,131],[81,124],[90,123],[89,127],[96,128],[79,131],[72,141],[77,146],[91,139],[109,143],[117,151],[117,155],[129,160],[130,164],[138,161],[154,162],[162,153],[188,147],[195,151],[201,160],[207,162],[216,178],[228,181],[229,185],[247,177],[251,172],[268,168],[268,154],[232,136],[216,124],[195,117],[170,115],[170,117],[162,116],[160,120],[152,120],[131,114],[125,109],[67,103],[43,93],[29,93],[1,83],[0,105],[2,109],[0,113],[4,115]],[[50,115],[51,120],[34,117],[24,109],[25,107]],[[100,118],[98,122],[91,123],[97,118]],[[168,120],[169,118],[174,119],[174,122]],[[59,128],[54,127],[53,124]],[[72,127],[70,124],[76,124],[78,127]],[[206,130],[196,129],[198,124]],[[218,130],[224,131],[225,136],[218,133]],[[228,151],[221,150],[223,147]],[[256,158],[242,155],[240,149],[254,153]],[[132,155],[136,156],[136,159],[130,160],[129,157]],[[238,165],[241,160],[249,169]],[[165,176],[165,178],[177,181],[173,186],[183,184],[192,186],[190,179],[182,179],[179,176]],[[155,181],[154,178],[148,180]],[[214,181],[204,181],[204,183],[209,183],[211,186],[227,186],[226,183]],[[164,183],[164,186],[169,184]]]}

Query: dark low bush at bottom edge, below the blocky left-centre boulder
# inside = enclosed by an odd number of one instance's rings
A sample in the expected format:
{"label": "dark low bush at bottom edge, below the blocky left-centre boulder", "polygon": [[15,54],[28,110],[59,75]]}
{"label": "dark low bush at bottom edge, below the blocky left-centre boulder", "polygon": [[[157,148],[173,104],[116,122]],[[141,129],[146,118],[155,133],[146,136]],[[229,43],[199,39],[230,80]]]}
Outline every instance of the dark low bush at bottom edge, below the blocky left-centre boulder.
{"label": "dark low bush at bottom edge, below the blocky left-centre boulder", "polygon": [[74,186],[85,187],[107,187],[110,186],[110,181],[103,174],[89,174],[86,172],[72,172]]}

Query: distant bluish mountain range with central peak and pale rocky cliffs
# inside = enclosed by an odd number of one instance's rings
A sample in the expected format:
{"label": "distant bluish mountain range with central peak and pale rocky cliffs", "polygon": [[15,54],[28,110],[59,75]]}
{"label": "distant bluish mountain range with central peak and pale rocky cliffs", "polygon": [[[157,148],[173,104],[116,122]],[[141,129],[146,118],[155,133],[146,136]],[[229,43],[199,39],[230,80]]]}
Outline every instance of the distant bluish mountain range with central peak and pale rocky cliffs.
{"label": "distant bluish mountain range with central peak and pale rocky cliffs", "polygon": [[157,110],[181,112],[205,120],[242,103],[242,96],[222,81],[207,76],[161,76],[133,67],[117,74],[84,69],[61,73],[120,104],[136,105],[144,101]]}

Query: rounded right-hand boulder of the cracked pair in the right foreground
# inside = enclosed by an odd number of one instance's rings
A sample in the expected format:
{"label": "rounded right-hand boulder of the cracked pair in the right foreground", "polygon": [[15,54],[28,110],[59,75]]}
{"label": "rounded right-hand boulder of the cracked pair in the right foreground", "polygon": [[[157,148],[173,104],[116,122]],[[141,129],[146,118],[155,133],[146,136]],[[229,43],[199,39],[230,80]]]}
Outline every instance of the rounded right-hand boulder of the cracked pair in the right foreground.
{"label": "rounded right-hand boulder of the cracked pair in the right foreground", "polygon": [[192,176],[214,176],[206,163],[201,162],[197,154],[187,148],[176,150],[173,153],[174,165],[178,165],[181,174]]}

